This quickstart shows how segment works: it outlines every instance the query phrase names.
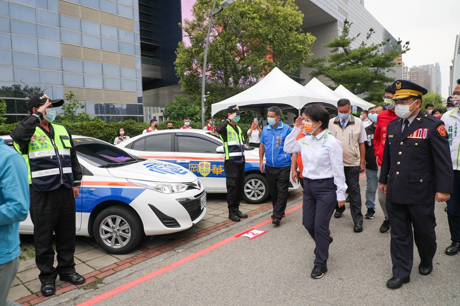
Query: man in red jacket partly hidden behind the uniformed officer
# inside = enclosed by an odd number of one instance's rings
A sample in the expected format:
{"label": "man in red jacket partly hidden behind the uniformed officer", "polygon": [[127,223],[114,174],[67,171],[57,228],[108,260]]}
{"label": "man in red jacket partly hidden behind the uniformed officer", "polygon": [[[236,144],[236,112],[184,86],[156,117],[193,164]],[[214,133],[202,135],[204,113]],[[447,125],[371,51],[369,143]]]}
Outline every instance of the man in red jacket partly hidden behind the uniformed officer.
{"label": "man in red jacket partly hidden behind the uniformed officer", "polygon": [[[386,140],[386,128],[390,121],[398,117],[395,114],[395,104],[392,100],[394,94],[395,92],[393,91],[391,86],[388,86],[385,89],[385,96],[383,97],[383,106],[386,110],[381,112],[377,117],[377,126],[374,133],[374,155],[375,157],[377,157],[378,166],[377,177],[380,176],[380,168],[382,167],[383,148],[385,147]],[[383,194],[380,191],[380,189],[378,190],[378,195],[380,207],[382,208],[383,215],[385,216],[385,220],[380,226],[380,233],[388,233],[390,230],[390,221],[388,219],[388,214],[386,213],[386,195]]]}

